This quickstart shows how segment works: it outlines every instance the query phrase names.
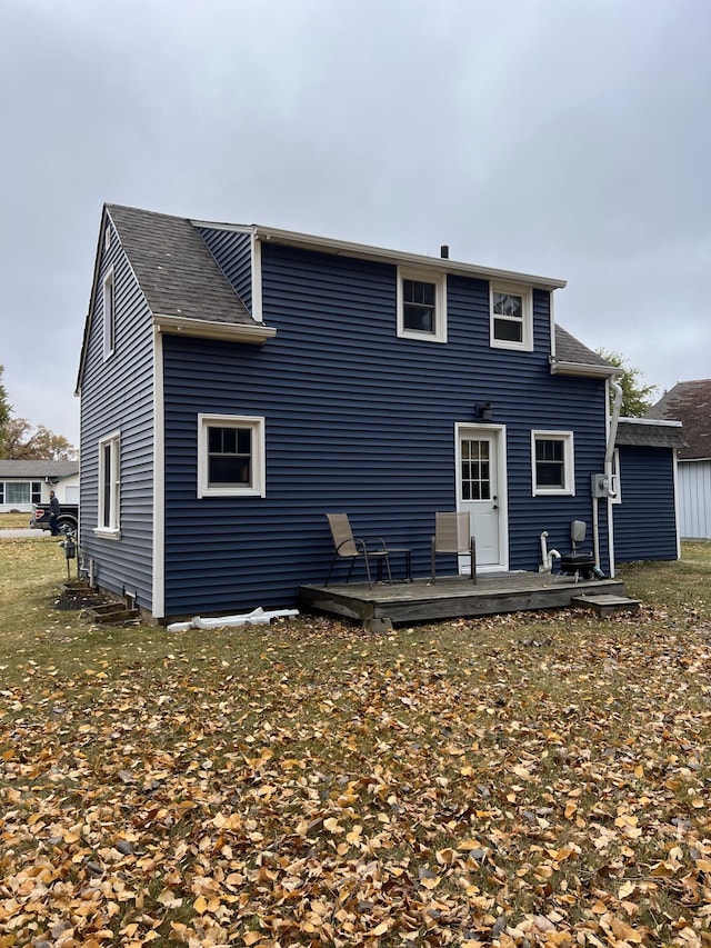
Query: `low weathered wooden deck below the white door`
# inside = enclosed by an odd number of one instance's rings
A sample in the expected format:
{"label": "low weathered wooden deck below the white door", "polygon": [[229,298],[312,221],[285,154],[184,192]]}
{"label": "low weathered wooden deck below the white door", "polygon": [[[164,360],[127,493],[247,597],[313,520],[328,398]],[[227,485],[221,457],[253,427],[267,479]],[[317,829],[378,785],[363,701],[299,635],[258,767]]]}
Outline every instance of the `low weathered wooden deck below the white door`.
{"label": "low weathered wooden deck below the white door", "polygon": [[[617,579],[580,580],[555,578],[548,573],[510,572],[479,576],[473,583],[467,577],[415,579],[413,582],[350,582],[331,586],[302,586],[301,608],[357,619],[370,628],[388,623],[427,622],[527,609],[569,607],[581,597],[621,597],[624,586]],[[582,600],[584,602],[584,598]],[[639,605],[639,603],[638,603]]]}

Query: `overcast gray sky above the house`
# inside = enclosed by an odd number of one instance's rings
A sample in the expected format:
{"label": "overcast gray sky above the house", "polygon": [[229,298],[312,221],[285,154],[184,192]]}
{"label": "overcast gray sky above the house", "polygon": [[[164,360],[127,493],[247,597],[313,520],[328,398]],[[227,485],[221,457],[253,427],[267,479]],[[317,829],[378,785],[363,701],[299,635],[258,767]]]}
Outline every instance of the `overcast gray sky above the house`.
{"label": "overcast gray sky above the house", "polygon": [[560,277],[711,376],[711,0],[0,0],[0,363],[79,443],[104,201]]}

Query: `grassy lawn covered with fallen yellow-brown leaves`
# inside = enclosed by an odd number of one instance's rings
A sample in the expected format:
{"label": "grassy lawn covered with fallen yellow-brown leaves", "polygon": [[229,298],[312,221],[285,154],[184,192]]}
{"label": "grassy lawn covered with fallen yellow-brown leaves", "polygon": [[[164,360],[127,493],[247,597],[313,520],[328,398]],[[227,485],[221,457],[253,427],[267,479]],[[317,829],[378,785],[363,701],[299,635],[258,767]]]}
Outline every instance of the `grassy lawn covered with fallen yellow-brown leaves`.
{"label": "grassy lawn covered with fallen yellow-brown leaves", "polygon": [[711,545],[635,616],[383,636],[97,627],[49,538],[0,576],[0,948],[711,946]]}

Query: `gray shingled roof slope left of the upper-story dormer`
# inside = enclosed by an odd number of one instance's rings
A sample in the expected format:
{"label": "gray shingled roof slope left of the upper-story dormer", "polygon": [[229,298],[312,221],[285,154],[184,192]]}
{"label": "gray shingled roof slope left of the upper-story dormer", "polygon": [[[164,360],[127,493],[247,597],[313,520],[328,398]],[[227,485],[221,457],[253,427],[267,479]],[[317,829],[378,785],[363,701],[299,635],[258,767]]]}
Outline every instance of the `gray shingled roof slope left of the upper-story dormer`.
{"label": "gray shingled roof slope left of the upper-story dormer", "polygon": [[254,326],[189,220],[119,204],[107,211],[154,315]]}

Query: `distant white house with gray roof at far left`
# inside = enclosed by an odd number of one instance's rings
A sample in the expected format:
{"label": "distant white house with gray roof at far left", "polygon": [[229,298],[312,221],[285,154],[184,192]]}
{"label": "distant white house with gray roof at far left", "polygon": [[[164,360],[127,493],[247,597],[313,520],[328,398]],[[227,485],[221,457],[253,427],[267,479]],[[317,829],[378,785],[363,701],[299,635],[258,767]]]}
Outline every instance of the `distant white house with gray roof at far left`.
{"label": "distant white house with gray roof at far left", "polygon": [[30,513],[53,490],[60,502],[79,503],[79,461],[0,460],[0,513]]}

